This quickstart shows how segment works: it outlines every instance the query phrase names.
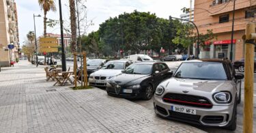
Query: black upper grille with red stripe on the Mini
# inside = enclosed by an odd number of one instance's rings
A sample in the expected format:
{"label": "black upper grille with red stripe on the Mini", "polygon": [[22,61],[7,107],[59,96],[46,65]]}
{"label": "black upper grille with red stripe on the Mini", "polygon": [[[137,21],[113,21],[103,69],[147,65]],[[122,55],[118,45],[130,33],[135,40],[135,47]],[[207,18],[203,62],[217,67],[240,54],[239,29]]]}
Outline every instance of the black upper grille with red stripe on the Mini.
{"label": "black upper grille with red stripe on the Mini", "polygon": [[167,93],[164,95],[162,100],[164,102],[169,102],[173,104],[195,106],[195,107],[201,107],[201,108],[212,108],[212,103],[207,98],[196,96],[196,95]]}

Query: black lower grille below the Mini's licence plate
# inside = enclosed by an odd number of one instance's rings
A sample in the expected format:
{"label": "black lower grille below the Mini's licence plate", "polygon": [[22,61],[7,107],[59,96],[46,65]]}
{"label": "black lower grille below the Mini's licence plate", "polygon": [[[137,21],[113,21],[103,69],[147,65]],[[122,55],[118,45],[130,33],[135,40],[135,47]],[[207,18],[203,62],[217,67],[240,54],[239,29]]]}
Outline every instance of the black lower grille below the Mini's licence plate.
{"label": "black lower grille below the Mini's licence plate", "polygon": [[191,114],[185,114],[185,113],[178,113],[174,112],[172,110],[169,110],[169,118],[170,119],[177,119],[184,122],[190,122],[190,123],[196,123],[200,124],[200,115],[191,115]]}

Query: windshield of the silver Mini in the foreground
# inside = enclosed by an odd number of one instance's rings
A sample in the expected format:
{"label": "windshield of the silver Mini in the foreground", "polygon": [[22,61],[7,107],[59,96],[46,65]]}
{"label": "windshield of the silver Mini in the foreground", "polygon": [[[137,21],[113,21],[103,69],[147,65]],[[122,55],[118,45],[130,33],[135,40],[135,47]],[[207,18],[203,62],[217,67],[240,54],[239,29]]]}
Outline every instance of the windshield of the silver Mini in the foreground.
{"label": "windshield of the silver Mini in the foreground", "polygon": [[218,62],[184,62],[175,72],[174,77],[201,80],[227,80],[223,63]]}

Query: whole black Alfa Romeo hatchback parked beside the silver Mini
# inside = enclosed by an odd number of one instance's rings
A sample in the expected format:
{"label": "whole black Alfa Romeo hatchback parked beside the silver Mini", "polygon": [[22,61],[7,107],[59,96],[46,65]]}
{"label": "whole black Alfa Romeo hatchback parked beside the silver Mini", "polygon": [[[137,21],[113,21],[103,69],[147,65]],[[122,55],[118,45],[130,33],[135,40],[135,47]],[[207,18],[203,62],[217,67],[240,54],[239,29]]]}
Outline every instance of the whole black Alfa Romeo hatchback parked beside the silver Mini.
{"label": "whole black Alfa Romeo hatchback parked beside the silver Mini", "polygon": [[109,95],[122,98],[143,98],[150,100],[156,87],[170,78],[171,72],[166,63],[134,63],[106,83]]}

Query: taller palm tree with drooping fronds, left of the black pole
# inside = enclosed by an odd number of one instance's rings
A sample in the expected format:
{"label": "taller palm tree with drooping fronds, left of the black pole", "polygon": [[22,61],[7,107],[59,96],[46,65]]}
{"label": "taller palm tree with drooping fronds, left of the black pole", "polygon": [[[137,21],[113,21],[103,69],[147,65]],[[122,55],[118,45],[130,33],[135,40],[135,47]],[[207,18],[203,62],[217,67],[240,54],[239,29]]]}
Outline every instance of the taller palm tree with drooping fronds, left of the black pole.
{"label": "taller palm tree with drooping fronds, left of the black pole", "polygon": [[53,0],[38,0],[41,10],[44,10],[44,36],[46,36],[46,14],[50,10],[56,11],[55,2]]}

